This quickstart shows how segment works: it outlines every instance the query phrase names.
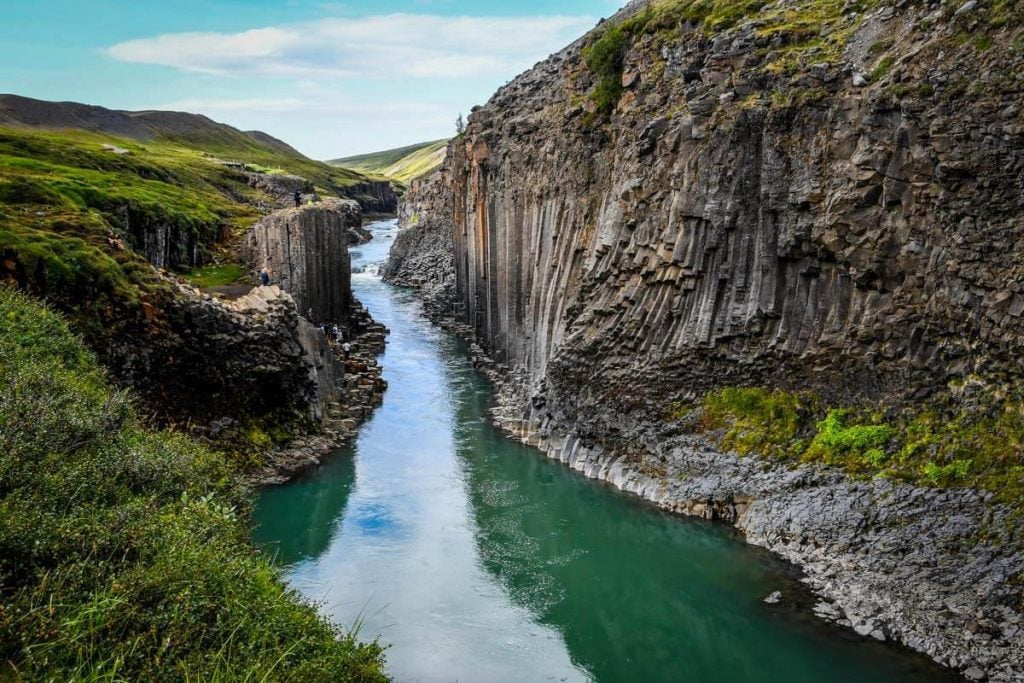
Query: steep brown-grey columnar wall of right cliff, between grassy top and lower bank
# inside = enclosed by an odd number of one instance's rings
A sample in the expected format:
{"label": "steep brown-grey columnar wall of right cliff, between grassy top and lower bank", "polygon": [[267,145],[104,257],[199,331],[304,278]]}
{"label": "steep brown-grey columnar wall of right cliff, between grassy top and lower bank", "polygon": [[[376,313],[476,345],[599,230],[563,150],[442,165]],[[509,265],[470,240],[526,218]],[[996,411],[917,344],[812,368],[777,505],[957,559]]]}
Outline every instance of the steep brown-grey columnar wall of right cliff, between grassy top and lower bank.
{"label": "steep brown-grey columnar wall of right cliff, between grassy top and lower bank", "polygon": [[[927,11],[872,14],[844,62],[787,79],[754,26],[643,36],[607,126],[584,121],[582,43],[500,90],[446,171],[485,347],[580,415],[727,384],[913,396],[1019,377],[1020,52],[965,72],[918,29]],[[865,86],[880,44],[893,73]]]}

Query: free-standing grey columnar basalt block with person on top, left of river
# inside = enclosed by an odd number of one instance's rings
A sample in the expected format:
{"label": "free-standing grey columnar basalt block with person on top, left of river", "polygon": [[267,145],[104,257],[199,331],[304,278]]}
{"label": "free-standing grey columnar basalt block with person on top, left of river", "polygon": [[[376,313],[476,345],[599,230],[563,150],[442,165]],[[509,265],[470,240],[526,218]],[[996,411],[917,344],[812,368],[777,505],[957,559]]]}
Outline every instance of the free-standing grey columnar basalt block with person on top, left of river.
{"label": "free-standing grey columnar basalt block with person on top, left of river", "polygon": [[311,323],[341,323],[351,308],[348,228],[360,222],[351,200],[279,211],[249,231],[245,258],[256,271],[268,268]]}

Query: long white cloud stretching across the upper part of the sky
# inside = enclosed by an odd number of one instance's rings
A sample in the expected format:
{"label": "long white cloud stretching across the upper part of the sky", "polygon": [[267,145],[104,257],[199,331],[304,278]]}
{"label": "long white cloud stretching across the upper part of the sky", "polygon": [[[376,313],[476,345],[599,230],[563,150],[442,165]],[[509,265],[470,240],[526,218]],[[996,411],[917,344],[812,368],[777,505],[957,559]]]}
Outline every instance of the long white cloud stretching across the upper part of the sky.
{"label": "long white cloud stretching across the upper part of the sky", "polygon": [[119,43],[121,61],[237,77],[512,76],[594,25],[591,17],[388,14]]}

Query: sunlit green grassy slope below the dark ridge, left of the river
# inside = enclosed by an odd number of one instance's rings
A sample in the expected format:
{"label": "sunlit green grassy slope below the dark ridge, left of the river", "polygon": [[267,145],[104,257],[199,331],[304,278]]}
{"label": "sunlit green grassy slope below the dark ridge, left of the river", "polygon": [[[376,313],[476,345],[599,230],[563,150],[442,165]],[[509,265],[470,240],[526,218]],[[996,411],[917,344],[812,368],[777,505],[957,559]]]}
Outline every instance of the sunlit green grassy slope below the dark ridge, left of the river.
{"label": "sunlit green grassy slope below the dark ridge, left of the river", "polygon": [[[115,155],[103,144],[131,154]],[[120,233],[125,211],[133,221],[172,224],[212,243],[241,232],[259,215],[254,205],[268,201],[211,155],[303,175],[336,191],[366,180],[267,150],[241,133],[143,143],[83,131],[0,128],[0,256],[16,261],[22,284],[39,293],[85,288],[135,300],[156,279],[140,257],[108,244],[111,230]]]}

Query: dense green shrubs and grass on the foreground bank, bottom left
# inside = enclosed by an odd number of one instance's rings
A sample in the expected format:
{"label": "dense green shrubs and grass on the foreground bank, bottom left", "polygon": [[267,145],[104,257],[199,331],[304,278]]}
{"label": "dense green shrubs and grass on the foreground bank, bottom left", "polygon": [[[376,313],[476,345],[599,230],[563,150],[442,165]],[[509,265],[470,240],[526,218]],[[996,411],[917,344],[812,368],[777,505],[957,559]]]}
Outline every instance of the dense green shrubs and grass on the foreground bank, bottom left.
{"label": "dense green shrubs and grass on the foreground bank, bottom left", "polygon": [[53,312],[0,287],[0,678],[377,681],[248,541],[223,457],[143,428]]}

